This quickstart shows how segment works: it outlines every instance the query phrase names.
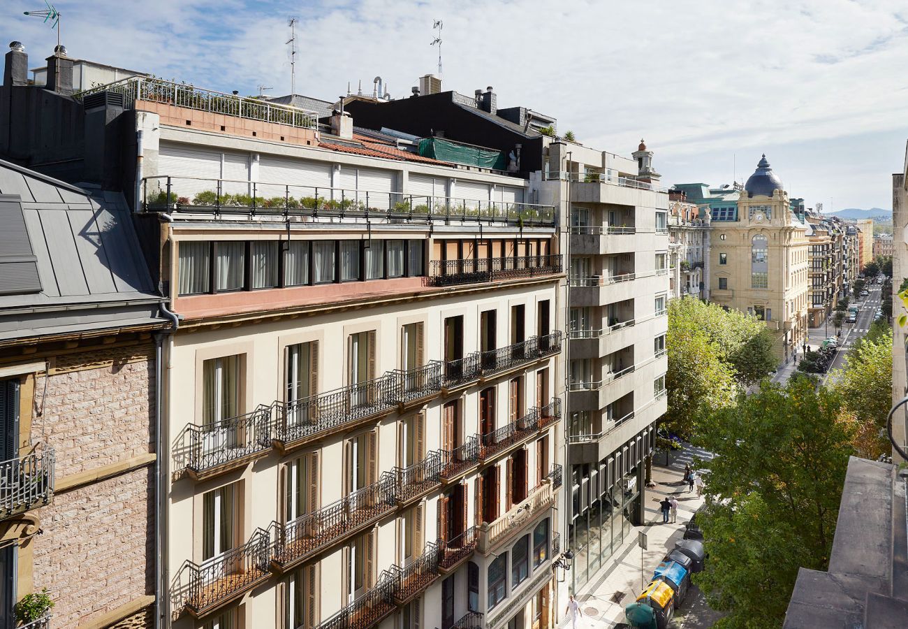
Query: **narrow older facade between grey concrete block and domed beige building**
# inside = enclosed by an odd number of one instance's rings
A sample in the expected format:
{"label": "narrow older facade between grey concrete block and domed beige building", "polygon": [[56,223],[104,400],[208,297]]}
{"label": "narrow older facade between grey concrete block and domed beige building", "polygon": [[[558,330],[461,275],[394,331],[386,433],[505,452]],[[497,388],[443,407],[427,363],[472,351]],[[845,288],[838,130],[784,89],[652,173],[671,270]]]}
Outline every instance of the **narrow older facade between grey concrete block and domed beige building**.
{"label": "narrow older facade between grey concrete block and domed beige building", "polygon": [[687,203],[684,193],[669,192],[669,298],[692,295],[709,299],[709,224],[711,215]]}

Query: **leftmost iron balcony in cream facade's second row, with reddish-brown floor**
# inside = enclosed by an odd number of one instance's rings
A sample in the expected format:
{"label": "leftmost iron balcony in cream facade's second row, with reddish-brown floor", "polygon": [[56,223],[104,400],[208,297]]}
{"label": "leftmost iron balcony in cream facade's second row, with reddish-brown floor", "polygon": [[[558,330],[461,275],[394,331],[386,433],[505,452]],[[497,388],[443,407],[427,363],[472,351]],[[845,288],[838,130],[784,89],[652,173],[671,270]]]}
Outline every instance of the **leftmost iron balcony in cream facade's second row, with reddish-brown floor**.
{"label": "leftmost iron balcony in cream facade's second row, with reddish-brown floor", "polygon": [[246,544],[199,564],[189,562],[186,610],[199,618],[268,580],[268,534],[257,529]]}

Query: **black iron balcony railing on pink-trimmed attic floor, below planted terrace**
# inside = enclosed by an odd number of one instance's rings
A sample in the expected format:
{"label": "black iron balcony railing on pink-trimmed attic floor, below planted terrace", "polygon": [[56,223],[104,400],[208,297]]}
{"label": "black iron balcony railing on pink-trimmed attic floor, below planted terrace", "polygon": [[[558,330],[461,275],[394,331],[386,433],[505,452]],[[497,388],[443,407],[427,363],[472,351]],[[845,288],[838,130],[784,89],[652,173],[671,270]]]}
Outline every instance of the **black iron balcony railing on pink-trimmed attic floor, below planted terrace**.
{"label": "black iron balcony railing on pink-trimmed attic floor, below planted terrace", "polygon": [[457,286],[561,273],[560,255],[518,255],[465,260],[431,260],[429,285]]}

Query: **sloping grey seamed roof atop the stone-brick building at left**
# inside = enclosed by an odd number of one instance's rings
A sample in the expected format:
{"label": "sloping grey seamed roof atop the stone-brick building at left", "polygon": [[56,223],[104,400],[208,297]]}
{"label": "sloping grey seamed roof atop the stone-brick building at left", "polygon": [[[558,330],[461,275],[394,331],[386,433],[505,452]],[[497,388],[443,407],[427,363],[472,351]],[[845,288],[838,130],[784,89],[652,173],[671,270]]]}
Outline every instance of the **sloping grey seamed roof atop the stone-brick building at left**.
{"label": "sloping grey seamed roof atop the stone-brick building at left", "polygon": [[25,219],[40,280],[0,294],[0,343],[167,323],[123,195],[93,197],[3,160],[0,195],[0,225]]}

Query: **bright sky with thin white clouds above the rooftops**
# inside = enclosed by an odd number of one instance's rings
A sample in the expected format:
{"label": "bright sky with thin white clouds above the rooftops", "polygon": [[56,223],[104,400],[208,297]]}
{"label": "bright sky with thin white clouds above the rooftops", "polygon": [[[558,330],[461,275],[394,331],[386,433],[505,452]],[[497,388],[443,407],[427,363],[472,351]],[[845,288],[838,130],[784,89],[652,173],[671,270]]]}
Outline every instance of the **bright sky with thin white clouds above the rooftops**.
{"label": "bright sky with thin white clouds above the rooftops", "polygon": [[[0,36],[44,65],[56,34],[2,0]],[[892,208],[908,140],[904,0],[60,0],[70,56],[202,87],[324,100],[394,97],[438,72],[443,89],[492,85],[498,106],[621,155],[641,138],[663,183],[744,181],[766,154],[789,195],[824,211]]]}

